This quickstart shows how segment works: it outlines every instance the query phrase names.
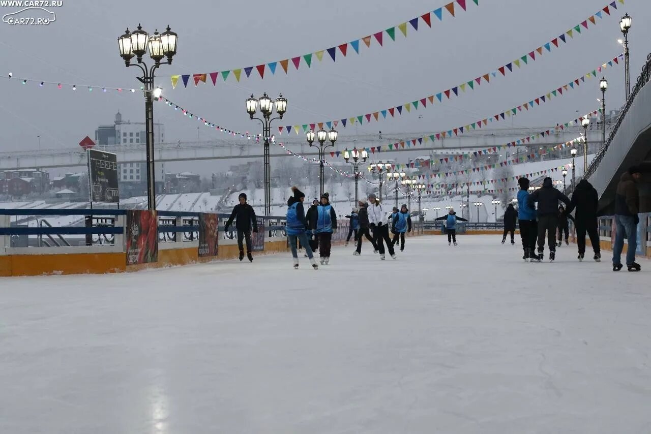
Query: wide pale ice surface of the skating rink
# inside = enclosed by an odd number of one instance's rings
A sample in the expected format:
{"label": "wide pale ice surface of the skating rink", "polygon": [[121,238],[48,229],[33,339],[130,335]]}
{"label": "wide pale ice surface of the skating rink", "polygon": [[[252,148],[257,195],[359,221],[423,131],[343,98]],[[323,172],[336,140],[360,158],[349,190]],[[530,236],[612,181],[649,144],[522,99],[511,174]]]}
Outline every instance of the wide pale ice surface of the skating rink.
{"label": "wide pale ice surface of the skating rink", "polygon": [[500,238],[0,279],[0,432],[649,432],[651,262]]}

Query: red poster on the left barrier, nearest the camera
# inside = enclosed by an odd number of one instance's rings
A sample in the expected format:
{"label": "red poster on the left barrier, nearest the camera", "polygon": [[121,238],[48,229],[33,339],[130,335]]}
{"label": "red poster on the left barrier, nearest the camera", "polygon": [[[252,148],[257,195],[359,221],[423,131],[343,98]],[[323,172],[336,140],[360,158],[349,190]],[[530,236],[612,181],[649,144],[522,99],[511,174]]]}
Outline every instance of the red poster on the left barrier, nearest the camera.
{"label": "red poster on the left barrier, nearest the camera", "polygon": [[158,213],[126,211],[126,265],[158,261]]}

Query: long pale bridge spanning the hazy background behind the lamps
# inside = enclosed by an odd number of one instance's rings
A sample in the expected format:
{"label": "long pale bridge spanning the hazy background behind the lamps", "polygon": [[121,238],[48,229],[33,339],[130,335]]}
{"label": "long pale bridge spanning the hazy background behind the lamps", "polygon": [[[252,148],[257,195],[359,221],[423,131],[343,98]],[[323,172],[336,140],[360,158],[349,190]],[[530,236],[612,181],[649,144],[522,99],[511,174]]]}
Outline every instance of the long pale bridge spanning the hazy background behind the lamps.
{"label": "long pale bridge spanning the hazy background behind the lamps", "polygon": [[[388,150],[387,144],[399,141],[411,140],[417,137],[424,137],[432,134],[415,132],[401,134],[375,134],[375,135],[339,135],[336,149],[343,151],[345,148],[373,148],[383,146],[383,151],[377,158],[386,158],[386,155],[399,155],[402,152],[422,151],[428,154],[432,151],[445,150],[474,150],[490,146],[500,146],[507,142],[516,141],[523,137],[530,137],[541,131],[553,131],[553,126],[531,127],[531,128],[500,128],[500,129],[476,129],[467,131],[456,137],[447,137],[436,142],[428,142],[424,146],[405,147]],[[576,139],[583,132],[583,128],[574,126],[558,130],[556,133],[540,137],[532,141],[530,146],[554,145]],[[216,133],[219,134],[219,133]],[[598,128],[588,131],[589,143],[596,144],[600,140]],[[277,136],[278,142],[283,142],[294,152],[305,156],[318,156],[314,148],[305,142],[302,135],[281,135]],[[143,163],[145,162],[145,147],[132,148],[119,145],[103,146],[107,152],[115,152],[120,163]],[[386,150],[385,150],[386,149]],[[280,146],[271,145],[271,157],[288,157]],[[241,159],[241,158],[262,158],[262,146],[255,143],[255,139],[232,138],[229,141],[205,141],[205,142],[174,142],[161,143],[156,145],[156,162],[166,163],[171,161],[195,161],[195,160],[218,160],[218,159]],[[51,150],[33,151],[8,151],[0,152],[0,170],[18,170],[26,168],[49,169],[56,167],[77,167],[87,166],[86,154],[79,146]]]}

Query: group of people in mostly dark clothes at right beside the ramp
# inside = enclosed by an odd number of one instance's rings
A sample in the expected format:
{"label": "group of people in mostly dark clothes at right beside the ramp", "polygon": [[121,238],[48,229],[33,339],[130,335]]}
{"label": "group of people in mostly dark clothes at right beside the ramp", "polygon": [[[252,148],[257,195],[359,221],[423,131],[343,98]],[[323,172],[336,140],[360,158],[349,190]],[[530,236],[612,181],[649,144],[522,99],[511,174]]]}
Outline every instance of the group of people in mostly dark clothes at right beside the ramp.
{"label": "group of people in mostly dark clothes at right beside the ramp", "polygon": [[[622,174],[617,185],[615,196],[615,245],[613,246],[613,271],[620,271],[624,267],[621,262],[622,250],[624,249],[624,237],[628,239],[628,250],[626,253],[626,267],[628,271],[640,271],[641,267],[635,262],[635,250],[637,249],[637,224],[639,223],[639,191],[637,181],[641,177],[639,167],[631,167]],[[549,260],[556,257],[556,247],[562,245],[564,239],[569,245],[569,224],[568,219],[574,222],[576,228],[577,247],[579,249],[579,261],[585,257],[585,236],[590,237],[590,244],[594,251],[593,259],[600,262],[602,255],[600,251],[597,211],[599,196],[596,189],[587,180],[577,183],[572,199],[566,197],[556,189],[547,177],[542,187],[529,193],[529,179],[519,178],[518,184],[518,210],[509,204],[504,215],[504,235],[502,243],[505,243],[507,234],[510,233],[511,244],[515,244],[514,231],[516,228],[516,217],[519,221],[520,237],[525,261],[540,262],[544,259],[545,241],[549,248]],[[565,206],[559,206],[563,202]],[[537,209],[535,207],[537,204]],[[575,211],[574,217],[570,213]],[[558,234],[558,238],[557,238]],[[558,239],[558,241],[557,241]],[[537,246],[536,246],[537,243]]]}

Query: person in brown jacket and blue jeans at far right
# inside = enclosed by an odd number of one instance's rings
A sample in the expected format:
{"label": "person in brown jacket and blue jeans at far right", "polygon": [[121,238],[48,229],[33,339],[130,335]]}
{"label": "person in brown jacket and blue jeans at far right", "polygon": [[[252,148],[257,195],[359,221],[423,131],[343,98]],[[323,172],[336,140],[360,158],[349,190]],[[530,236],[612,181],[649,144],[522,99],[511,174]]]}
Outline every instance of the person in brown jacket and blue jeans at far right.
{"label": "person in brown jacket and blue jeans at far right", "polygon": [[640,194],[637,189],[637,182],[641,178],[639,167],[631,167],[628,172],[622,174],[617,184],[615,195],[615,246],[613,247],[613,271],[622,269],[622,250],[624,249],[624,235],[628,238],[628,249],[626,251],[626,267],[628,271],[640,271],[642,267],[635,262],[635,250],[637,249],[637,224],[640,217],[637,213],[640,210]]}

